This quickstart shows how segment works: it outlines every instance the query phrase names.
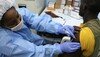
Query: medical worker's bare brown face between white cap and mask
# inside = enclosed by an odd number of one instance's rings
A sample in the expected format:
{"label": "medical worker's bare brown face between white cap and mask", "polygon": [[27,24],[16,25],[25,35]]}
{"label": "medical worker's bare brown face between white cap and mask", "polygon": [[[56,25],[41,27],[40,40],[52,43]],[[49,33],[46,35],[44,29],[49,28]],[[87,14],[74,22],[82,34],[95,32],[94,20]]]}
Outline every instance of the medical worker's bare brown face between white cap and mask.
{"label": "medical worker's bare brown face between white cap and mask", "polygon": [[13,28],[20,23],[21,17],[14,7],[11,7],[3,15],[1,26],[6,28]]}

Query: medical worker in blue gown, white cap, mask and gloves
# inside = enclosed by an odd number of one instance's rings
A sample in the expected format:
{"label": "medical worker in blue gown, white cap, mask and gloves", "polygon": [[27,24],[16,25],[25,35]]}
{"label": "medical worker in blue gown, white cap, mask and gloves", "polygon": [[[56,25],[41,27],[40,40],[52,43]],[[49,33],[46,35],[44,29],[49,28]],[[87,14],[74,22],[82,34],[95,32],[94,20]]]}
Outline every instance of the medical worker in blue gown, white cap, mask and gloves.
{"label": "medical worker in blue gown, white cap, mask and gloves", "polygon": [[14,0],[0,0],[0,57],[53,57],[80,48],[76,42],[42,45],[45,40],[30,29],[74,37],[73,27],[52,22],[47,14],[37,16],[26,8],[16,10]]}

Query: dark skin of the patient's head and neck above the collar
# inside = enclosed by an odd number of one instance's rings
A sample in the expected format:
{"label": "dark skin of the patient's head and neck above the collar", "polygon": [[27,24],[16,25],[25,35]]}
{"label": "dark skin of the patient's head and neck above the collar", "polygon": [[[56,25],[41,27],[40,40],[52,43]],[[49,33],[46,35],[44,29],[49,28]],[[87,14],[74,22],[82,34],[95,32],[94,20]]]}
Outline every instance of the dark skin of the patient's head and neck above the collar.
{"label": "dark skin of the patient's head and neck above the collar", "polygon": [[[91,1],[91,3],[89,2]],[[80,5],[80,11],[79,11],[79,15],[83,17],[84,22],[86,23],[90,20],[93,19],[97,19],[98,17],[98,13],[99,13],[99,4],[97,4],[97,2],[100,2],[99,0],[81,0],[81,5]],[[94,4],[94,5],[93,5]],[[96,5],[97,4],[97,5]]]}

